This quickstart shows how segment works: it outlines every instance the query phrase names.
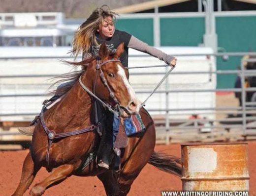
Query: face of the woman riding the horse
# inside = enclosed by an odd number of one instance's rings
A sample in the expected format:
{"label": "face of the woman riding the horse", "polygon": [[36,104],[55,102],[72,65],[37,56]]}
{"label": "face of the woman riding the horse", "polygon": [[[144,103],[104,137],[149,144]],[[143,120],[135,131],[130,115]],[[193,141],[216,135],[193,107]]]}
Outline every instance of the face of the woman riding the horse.
{"label": "face of the woman riding the horse", "polygon": [[110,38],[114,35],[115,25],[110,16],[105,18],[104,22],[97,29],[97,32],[103,39]]}

